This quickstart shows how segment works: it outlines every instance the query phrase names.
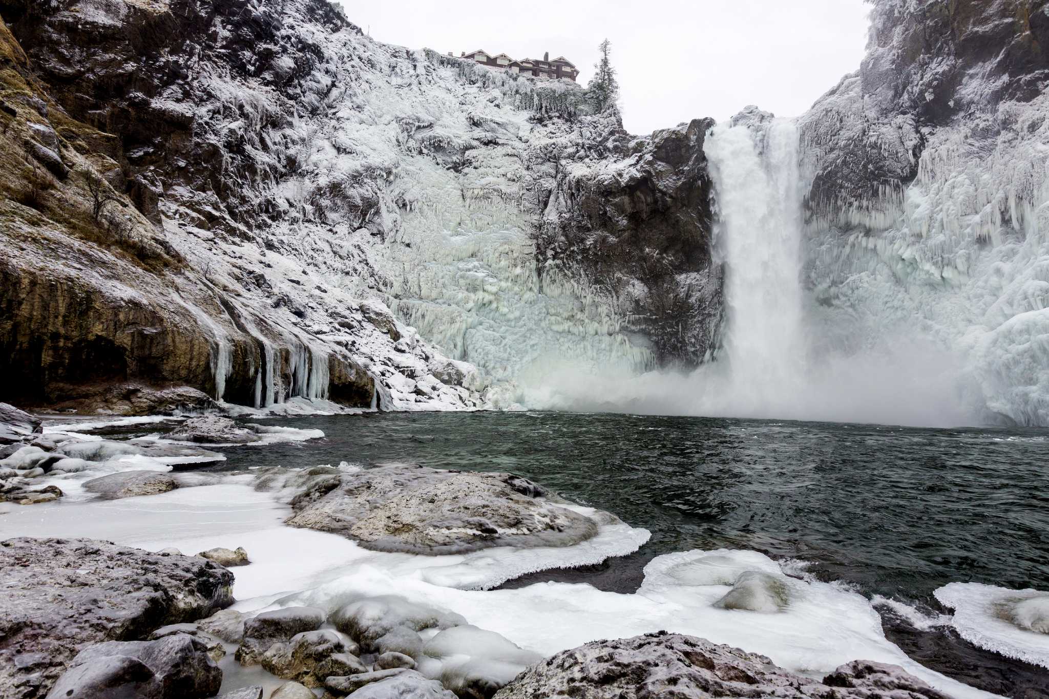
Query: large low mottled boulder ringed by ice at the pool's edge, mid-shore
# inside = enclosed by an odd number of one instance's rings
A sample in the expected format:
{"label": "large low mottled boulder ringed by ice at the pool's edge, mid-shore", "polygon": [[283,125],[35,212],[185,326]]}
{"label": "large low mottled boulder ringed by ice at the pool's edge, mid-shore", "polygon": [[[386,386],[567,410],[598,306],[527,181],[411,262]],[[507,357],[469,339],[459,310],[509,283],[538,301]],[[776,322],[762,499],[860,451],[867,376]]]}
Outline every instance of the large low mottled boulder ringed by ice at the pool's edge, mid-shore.
{"label": "large low mottled boulder ringed by ice at the pool's edge, mid-shore", "polygon": [[571,546],[597,533],[595,519],[559,506],[563,501],[556,496],[523,495],[523,480],[425,467],[369,468],[316,481],[292,500],[295,514],[287,523],[342,534],[373,550],[427,554]]}

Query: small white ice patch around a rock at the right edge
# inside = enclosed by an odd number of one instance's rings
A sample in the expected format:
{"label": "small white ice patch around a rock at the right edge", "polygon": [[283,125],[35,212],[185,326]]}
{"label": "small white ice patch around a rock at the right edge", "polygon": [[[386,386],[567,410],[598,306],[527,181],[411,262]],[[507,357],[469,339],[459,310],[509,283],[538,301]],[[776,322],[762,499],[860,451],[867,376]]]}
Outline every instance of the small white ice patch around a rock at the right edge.
{"label": "small white ice patch around a rock at the right edge", "polygon": [[955,610],[951,626],[965,640],[1049,668],[1049,592],[950,583],[934,594]]}

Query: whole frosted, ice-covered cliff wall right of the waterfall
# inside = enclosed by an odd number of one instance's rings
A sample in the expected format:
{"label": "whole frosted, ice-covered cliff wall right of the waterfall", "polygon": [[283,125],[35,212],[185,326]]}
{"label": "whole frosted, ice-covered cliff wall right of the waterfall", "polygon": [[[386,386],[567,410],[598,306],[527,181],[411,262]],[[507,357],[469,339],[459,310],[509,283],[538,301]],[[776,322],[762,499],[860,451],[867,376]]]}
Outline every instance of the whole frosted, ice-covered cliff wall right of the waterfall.
{"label": "whole frosted, ice-covered cliff wall right of the waterfall", "polygon": [[873,5],[799,122],[825,350],[948,363],[968,419],[1049,424],[1049,6]]}

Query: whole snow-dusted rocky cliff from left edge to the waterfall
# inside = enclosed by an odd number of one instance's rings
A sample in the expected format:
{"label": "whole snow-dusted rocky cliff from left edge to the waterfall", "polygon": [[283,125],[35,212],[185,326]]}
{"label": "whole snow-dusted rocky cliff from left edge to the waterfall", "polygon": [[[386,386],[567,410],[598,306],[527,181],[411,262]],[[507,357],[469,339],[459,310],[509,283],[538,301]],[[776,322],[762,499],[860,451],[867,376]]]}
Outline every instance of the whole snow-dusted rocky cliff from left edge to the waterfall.
{"label": "whole snow-dusted rocky cliff from left edge to the waterfall", "polygon": [[324,0],[0,16],[8,399],[469,408],[709,345],[702,122],[631,138]]}

